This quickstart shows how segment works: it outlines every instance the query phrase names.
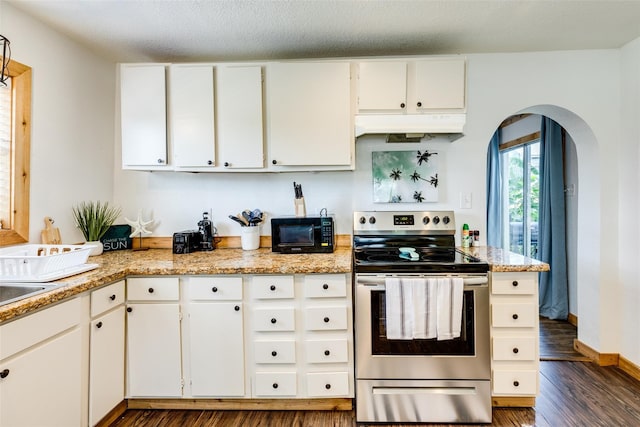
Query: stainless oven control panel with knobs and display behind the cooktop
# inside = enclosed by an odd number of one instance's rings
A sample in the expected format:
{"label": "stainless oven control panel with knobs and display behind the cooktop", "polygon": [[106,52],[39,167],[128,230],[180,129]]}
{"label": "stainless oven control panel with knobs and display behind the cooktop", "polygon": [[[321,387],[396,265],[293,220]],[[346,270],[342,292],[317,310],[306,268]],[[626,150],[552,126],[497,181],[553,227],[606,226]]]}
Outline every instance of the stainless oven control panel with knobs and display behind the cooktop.
{"label": "stainless oven control panel with knobs and display behind the cooktop", "polygon": [[453,211],[356,211],[354,234],[444,233],[455,234]]}

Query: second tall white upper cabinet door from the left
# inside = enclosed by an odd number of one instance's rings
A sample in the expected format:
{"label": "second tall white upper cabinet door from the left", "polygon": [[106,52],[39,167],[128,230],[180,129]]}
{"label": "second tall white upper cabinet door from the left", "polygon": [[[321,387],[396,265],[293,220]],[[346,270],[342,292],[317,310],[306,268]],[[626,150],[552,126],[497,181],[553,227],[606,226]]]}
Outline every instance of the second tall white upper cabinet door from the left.
{"label": "second tall white upper cabinet door from the left", "polygon": [[177,167],[213,167],[213,67],[173,65],[169,71],[173,163]]}

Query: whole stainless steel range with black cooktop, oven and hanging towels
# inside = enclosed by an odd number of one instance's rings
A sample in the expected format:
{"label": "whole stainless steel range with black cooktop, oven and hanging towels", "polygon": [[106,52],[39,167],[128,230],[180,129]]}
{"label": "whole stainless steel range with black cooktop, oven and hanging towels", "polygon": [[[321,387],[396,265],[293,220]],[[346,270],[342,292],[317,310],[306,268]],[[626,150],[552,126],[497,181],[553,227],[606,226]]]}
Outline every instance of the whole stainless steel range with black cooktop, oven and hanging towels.
{"label": "whole stainless steel range with black cooktop, oven and hanging towels", "polygon": [[451,211],[355,212],[356,420],[491,422],[488,265]]}

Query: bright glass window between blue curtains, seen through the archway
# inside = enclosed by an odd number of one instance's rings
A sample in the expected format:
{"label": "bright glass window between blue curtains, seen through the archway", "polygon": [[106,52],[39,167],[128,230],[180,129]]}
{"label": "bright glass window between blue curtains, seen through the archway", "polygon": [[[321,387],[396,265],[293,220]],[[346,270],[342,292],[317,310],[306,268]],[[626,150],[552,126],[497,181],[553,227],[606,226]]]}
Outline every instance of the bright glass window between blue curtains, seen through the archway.
{"label": "bright glass window between blue curtains, seen through the archway", "polygon": [[510,251],[536,258],[538,255],[538,211],[540,194],[540,135],[528,142],[500,148],[504,214],[504,246]]}

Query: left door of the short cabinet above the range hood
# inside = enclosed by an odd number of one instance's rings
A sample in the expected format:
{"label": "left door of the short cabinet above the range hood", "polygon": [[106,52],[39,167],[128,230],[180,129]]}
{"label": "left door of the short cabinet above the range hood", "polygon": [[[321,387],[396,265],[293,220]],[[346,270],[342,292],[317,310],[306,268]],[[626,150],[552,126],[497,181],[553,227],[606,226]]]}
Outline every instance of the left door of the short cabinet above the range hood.
{"label": "left door of the short cabinet above the range hood", "polygon": [[407,63],[361,62],[358,70],[360,112],[402,112],[407,103]]}

